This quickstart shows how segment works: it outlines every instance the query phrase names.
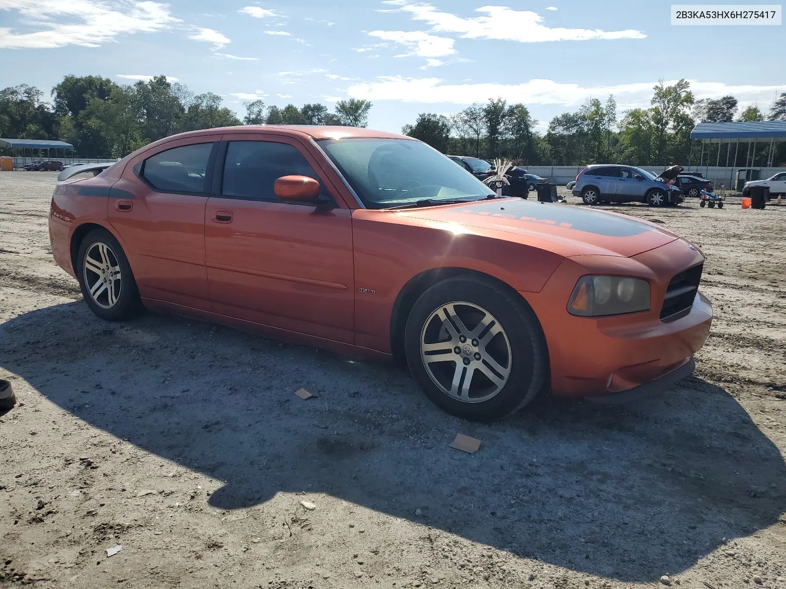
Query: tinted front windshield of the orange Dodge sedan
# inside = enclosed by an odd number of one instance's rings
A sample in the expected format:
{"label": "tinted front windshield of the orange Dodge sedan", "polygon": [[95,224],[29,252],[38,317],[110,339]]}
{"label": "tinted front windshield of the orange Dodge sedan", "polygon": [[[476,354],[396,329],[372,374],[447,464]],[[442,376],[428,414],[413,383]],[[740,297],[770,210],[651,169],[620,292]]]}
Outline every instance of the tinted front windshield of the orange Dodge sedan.
{"label": "tinted front windshield of the orange Dodge sedan", "polygon": [[407,139],[321,139],[319,146],[370,209],[418,200],[474,200],[491,191],[453,160]]}

